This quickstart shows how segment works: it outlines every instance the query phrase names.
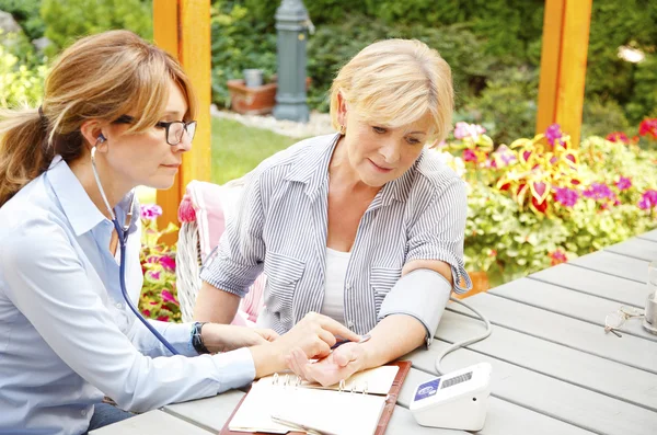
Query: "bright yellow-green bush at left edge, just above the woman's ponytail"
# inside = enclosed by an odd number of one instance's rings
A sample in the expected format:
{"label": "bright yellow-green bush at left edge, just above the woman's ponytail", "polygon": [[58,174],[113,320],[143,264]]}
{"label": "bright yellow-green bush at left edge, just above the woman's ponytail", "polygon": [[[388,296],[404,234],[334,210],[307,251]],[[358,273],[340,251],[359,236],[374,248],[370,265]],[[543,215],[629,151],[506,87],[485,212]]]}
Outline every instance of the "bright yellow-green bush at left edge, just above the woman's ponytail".
{"label": "bright yellow-green bush at left edge, just above the woman's ponytail", "polygon": [[0,106],[34,106],[44,93],[46,67],[31,68],[0,45]]}

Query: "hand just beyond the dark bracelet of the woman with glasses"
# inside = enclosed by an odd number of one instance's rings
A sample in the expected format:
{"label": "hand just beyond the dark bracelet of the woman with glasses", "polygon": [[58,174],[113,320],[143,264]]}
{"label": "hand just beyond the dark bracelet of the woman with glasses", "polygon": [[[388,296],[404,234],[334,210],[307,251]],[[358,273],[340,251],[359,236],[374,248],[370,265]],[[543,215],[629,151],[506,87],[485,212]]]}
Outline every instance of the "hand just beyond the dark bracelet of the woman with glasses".
{"label": "hand just beyond the dark bracelet of the woman with glasses", "polygon": [[211,353],[229,352],[273,342],[278,334],[268,329],[206,323],[200,330],[203,344]]}

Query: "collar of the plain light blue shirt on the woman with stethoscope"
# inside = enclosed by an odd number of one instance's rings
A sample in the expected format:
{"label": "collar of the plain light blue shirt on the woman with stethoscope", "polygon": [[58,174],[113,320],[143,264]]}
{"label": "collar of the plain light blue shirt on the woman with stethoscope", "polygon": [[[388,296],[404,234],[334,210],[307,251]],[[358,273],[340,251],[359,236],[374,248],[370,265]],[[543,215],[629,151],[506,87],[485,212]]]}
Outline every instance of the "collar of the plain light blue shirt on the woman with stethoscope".
{"label": "collar of the plain light blue shirt on the woman with stethoscope", "polygon": [[[95,228],[99,224],[108,220],[93,204],[78,178],[60,156],[56,156],[53,159],[46,172],[46,178],[53,186],[53,191],[57,199],[59,199],[64,214],[71,224],[76,236],[81,236]],[[134,192],[128,193],[115,207],[115,213],[119,217],[119,221],[125,220],[125,210],[129,208],[132,195]],[[136,220],[139,218],[137,208],[138,204],[135,202],[129,232],[132,232],[137,228]]]}

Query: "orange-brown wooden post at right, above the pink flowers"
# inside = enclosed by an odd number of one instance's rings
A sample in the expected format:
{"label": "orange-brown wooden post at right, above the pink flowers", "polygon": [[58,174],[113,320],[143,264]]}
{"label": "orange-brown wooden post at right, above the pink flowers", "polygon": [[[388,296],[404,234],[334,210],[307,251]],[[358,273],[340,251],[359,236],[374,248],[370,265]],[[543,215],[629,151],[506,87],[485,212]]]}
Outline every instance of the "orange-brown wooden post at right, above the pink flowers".
{"label": "orange-brown wooden post at right, above the pink flowers", "polygon": [[537,133],[553,123],[579,145],[592,0],[545,0]]}

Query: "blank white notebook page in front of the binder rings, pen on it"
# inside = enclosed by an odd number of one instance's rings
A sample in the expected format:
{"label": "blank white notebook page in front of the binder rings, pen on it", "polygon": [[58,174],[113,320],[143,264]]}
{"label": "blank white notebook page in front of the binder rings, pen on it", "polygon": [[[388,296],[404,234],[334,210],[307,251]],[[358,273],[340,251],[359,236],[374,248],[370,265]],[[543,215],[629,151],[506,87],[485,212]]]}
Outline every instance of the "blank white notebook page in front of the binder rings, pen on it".
{"label": "blank white notebook page in front of the binder rings, pen on it", "polygon": [[285,434],[293,431],[272,415],[312,427],[322,434],[373,435],[385,407],[384,396],[256,382],[229,428],[235,432]]}

